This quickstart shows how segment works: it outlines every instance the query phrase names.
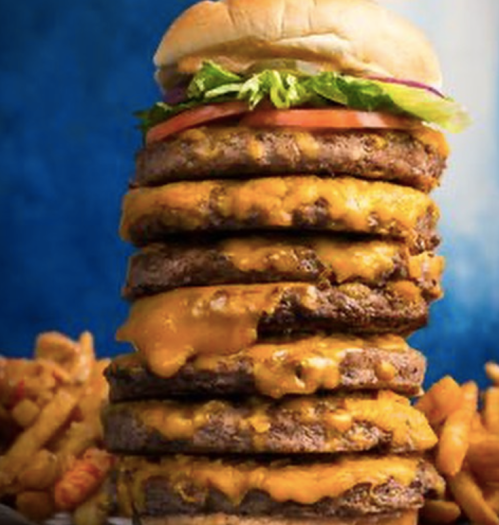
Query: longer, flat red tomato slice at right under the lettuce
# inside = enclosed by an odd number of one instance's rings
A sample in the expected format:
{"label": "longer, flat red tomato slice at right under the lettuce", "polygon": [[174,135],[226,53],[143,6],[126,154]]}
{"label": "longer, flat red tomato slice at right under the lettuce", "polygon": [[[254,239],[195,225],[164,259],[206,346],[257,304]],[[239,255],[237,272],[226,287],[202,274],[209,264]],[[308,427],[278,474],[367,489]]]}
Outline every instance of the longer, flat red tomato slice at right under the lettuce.
{"label": "longer, flat red tomato slice at right under the lettuce", "polygon": [[417,119],[353,109],[269,109],[248,113],[241,121],[251,127],[300,127],[300,128],[417,128]]}

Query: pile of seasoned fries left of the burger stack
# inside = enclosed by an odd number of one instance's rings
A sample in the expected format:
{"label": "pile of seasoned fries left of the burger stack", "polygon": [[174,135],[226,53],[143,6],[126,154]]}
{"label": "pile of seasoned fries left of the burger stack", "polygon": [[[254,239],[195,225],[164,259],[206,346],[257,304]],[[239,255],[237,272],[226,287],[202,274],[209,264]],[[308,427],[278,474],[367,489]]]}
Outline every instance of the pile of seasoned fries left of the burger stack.
{"label": "pile of seasoned fries left of the burger stack", "polygon": [[97,522],[88,514],[112,465],[100,422],[108,363],[88,332],[41,334],[31,360],[0,357],[0,502],[37,522],[59,511]]}

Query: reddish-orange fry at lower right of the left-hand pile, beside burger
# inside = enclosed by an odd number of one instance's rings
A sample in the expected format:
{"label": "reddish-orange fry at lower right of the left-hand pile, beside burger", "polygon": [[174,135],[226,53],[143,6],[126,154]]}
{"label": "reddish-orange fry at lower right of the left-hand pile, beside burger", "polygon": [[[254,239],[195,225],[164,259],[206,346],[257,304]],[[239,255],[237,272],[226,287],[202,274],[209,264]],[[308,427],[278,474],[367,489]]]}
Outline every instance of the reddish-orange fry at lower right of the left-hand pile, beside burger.
{"label": "reddish-orange fry at lower right of the left-hand pile, beside burger", "polygon": [[90,449],[57,482],[54,498],[57,509],[74,510],[96,492],[109,472],[113,458],[99,449]]}

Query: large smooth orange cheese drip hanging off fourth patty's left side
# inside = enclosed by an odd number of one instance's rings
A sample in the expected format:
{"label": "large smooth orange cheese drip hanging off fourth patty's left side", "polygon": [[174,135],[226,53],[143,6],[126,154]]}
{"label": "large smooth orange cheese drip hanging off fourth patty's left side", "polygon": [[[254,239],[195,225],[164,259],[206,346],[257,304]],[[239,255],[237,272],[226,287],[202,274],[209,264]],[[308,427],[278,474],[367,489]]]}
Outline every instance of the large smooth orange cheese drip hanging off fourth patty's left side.
{"label": "large smooth orange cheese drip hanging off fourth patty's left side", "polygon": [[[312,287],[298,284],[295,289],[313,306]],[[147,297],[134,303],[117,339],[133,344],[155,374],[169,377],[194,355],[233,354],[254,344],[260,317],[274,311],[283,290],[233,285]]]}

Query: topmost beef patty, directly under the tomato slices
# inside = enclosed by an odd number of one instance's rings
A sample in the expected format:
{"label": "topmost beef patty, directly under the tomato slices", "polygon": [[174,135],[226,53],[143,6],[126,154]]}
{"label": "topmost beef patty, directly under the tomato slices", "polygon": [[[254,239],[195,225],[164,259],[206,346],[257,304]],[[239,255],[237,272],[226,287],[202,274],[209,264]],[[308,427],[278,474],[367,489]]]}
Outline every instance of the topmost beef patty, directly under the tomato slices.
{"label": "topmost beef patty, directly under the tomato slices", "polygon": [[141,150],[135,183],[154,186],[181,180],[346,174],[429,191],[445,169],[443,141],[435,131],[201,127]]}

